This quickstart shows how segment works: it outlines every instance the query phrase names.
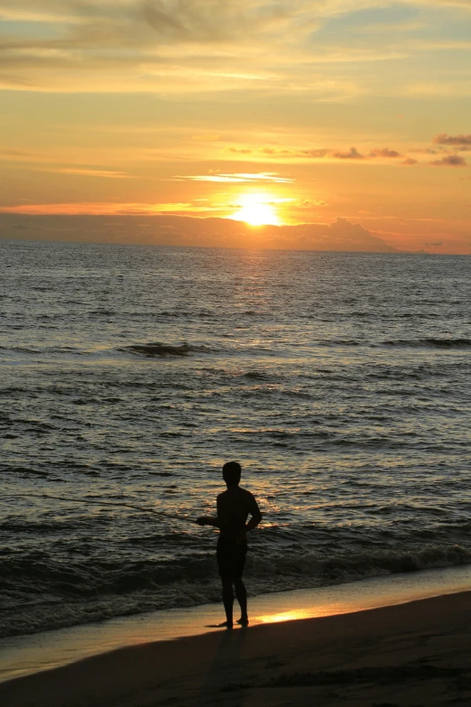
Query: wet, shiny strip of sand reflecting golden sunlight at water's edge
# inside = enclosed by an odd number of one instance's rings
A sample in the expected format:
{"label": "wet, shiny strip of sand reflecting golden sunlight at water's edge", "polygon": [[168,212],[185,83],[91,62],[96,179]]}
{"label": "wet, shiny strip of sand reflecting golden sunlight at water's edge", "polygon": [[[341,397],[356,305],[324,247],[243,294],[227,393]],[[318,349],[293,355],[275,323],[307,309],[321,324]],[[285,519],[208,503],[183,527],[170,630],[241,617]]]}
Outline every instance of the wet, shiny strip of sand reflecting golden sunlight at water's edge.
{"label": "wet, shiny strip of sand reflecting golden sunlight at water's edge", "polygon": [[[293,619],[353,614],[470,590],[471,565],[463,565],[263,594],[249,599],[250,628]],[[126,647],[208,633],[220,635],[220,629],[209,628],[208,624],[223,620],[223,613],[221,603],[207,604],[4,638],[0,640],[0,684]]]}

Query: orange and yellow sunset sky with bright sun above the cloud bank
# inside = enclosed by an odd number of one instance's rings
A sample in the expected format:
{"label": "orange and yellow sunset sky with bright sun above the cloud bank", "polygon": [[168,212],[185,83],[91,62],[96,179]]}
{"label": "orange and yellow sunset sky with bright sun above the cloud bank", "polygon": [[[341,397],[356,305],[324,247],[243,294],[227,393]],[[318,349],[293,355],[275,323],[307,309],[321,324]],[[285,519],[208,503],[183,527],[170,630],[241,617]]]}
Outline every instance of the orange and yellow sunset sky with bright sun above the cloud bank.
{"label": "orange and yellow sunset sky with bright sun above the cloud bank", "polygon": [[471,253],[471,0],[0,0],[0,19],[4,237],[163,213],[252,224],[212,245],[309,223]]}

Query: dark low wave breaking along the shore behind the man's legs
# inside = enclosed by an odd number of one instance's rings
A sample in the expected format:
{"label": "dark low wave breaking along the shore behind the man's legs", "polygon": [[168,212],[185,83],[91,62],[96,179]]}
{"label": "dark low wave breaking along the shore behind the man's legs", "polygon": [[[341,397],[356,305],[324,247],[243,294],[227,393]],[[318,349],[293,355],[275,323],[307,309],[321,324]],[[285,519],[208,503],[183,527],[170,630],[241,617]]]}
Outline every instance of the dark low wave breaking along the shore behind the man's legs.
{"label": "dark low wave breaking along the shore behind the man's legs", "polygon": [[[431,544],[403,551],[328,557],[249,554],[246,575],[249,593],[254,596],[469,563],[470,549],[457,544]],[[0,566],[4,585],[0,637],[220,600],[214,560],[209,554],[186,563],[161,563],[160,566],[134,563],[118,568],[112,563],[106,566],[104,562],[99,573],[92,572],[85,561],[78,564],[72,570],[61,563],[52,568],[38,559],[33,564],[24,560],[18,563],[14,558],[4,560]],[[96,586],[97,577],[101,577],[100,587]],[[54,581],[51,582],[51,578]]]}

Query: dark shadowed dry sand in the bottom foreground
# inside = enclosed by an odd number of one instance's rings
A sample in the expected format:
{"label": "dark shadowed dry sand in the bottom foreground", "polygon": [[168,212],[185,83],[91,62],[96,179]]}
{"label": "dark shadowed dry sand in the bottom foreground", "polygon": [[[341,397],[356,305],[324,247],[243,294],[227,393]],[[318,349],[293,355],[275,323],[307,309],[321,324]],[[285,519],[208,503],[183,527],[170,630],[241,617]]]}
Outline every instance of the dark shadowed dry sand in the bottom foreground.
{"label": "dark shadowed dry sand in the bottom foreground", "polygon": [[471,704],[471,592],[125,647],[0,685],[8,707]]}

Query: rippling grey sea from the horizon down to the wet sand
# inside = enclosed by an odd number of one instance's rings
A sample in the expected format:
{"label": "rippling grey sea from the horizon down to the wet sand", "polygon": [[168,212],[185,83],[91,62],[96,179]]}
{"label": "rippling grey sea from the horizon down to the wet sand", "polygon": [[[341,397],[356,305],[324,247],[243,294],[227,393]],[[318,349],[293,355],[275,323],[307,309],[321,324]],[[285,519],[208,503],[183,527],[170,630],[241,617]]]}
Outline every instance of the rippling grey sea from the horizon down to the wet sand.
{"label": "rippling grey sea from the horizon down to the wet sand", "polygon": [[263,511],[249,595],[471,563],[470,282],[467,256],[0,241],[0,636],[219,600],[188,520],[226,460]]}

